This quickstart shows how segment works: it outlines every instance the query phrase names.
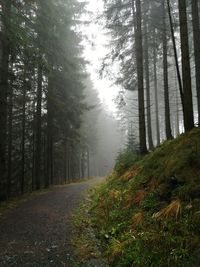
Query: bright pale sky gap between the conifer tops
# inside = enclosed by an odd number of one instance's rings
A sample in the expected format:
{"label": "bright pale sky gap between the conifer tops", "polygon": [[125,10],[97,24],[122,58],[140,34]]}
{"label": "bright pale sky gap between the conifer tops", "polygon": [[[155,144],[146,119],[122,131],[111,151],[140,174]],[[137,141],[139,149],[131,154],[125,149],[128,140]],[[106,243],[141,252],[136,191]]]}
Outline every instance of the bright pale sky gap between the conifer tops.
{"label": "bright pale sky gap between the conifer tops", "polygon": [[108,52],[105,47],[108,43],[107,37],[104,35],[103,27],[97,23],[96,19],[96,15],[103,10],[103,1],[88,0],[87,9],[92,12],[91,15],[86,15],[86,19],[89,19],[91,23],[83,28],[84,34],[89,39],[89,41],[84,41],[85,57],[90,61],[88,71],[95,88],[99,92],[101,101],[108,106],[109,110],[115,112],[116,106],[113,99],[117,96],[119,89],[113,85],[113,81],[106,78],[100,79],[98,74],[101,60]]}

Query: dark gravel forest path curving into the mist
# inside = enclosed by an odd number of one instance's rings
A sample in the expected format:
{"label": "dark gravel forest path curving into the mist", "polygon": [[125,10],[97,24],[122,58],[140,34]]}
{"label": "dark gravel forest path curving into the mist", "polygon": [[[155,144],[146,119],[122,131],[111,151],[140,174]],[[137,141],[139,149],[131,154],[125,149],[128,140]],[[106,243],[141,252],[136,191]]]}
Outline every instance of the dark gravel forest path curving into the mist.
{"label": "dark gravel forest path curving into the mist", "polygon": [[0,218],[0,267],[77,267],[70,216],[83,193],[101,180],[57,187]]}

